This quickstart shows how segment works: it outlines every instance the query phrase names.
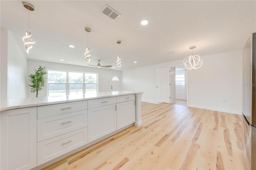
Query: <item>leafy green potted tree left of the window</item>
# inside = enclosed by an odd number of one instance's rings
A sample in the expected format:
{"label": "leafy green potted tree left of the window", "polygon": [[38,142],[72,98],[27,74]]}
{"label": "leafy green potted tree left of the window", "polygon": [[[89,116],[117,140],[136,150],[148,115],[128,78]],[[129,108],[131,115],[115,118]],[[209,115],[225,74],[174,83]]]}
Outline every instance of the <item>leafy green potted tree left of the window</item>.
{"label": "leafy green potted tree left of the window", "polygon": [[31,84],[31,92],[34,93],[36,91],[36,97],[38,96],[38,91],[42,90],[44,87],[45,77],[44,75],[47,74],[45,67],[41,67],[39,65],[38,69],[35,69],[35,74],[30,74],[28,77],[30,78],[29,81]]}

